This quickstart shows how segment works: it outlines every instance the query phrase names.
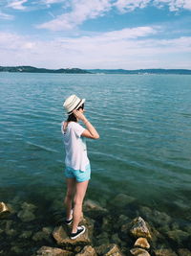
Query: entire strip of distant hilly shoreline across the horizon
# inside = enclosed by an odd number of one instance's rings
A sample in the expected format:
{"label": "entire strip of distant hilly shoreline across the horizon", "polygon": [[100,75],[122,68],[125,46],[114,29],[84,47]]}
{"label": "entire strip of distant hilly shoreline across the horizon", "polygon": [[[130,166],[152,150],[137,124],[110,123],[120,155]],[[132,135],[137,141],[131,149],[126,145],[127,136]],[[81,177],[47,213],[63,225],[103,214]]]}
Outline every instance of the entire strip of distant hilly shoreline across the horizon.
{"label": "entire strip of distant hilly shoreline across the horizon", "polygon": [[120,74],[120,75],[191,75],[189,69],[80,69],[80,68],[60,68],[47,69],[32,66],[0,66],[0,72],[12,73],[53,73],[53,74]]}

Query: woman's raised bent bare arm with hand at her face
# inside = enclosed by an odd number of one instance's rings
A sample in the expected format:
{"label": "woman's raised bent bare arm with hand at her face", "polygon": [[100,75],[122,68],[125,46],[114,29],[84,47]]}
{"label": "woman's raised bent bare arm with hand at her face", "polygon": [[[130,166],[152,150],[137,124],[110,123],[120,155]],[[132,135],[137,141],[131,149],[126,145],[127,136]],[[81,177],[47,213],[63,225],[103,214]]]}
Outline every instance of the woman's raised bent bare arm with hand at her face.
{"label": "woman's raised bent bare arm with hand at her face", "polygon": [[74,110],[73,112],[75,117],[81,120],[86,126],[86,129],[82,132],[81,136],[91,139],[98,139],[99,134],[96,131],[96,128],[93,127],[93,125],[90,123],[90,121],[88,121],[85,115],[78,110]]}

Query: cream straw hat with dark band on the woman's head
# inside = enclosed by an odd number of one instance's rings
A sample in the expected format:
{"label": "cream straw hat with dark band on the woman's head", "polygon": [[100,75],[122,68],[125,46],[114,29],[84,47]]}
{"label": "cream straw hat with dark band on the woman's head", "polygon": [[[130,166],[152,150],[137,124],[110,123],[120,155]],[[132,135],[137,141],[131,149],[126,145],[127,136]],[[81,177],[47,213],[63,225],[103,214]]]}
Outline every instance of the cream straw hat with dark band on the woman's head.
{"label": "cream straw hat with dark band on the woman's head", "polygon": [[63,106],[68,115],[72,114],[74,109],[77,109],[80,105],[85,103],[85,99],[79,99],[76,95],[71,95],[66,99]]}

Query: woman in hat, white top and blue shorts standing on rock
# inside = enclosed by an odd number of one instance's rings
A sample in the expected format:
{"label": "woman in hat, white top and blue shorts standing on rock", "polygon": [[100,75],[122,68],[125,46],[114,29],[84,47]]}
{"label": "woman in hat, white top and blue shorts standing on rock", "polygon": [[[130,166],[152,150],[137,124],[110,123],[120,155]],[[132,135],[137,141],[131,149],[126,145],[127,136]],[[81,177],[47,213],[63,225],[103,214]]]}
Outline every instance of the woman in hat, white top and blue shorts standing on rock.
{"label": "woman in hat, white top and blue shorts standing on rock", "polygon": [[[82,214],[83,198],[85,197],[91,176],[85,137],[91,139],[99,138],[96,128],[93,127],[84,115],[84,102],[85,99],[81,100],[75,95],[71,95],[66,99],[63,106],[67,111],[68,119],[61,126],[66,151],[65,175],[67,179],[67,193],[64,202],[67,216],[65,223],[71,224],[73,221],[71,239],[77,238],[86,230],[84,225],[78,226]],[[83,122],[86,128],[78,124],[79,120]]]}

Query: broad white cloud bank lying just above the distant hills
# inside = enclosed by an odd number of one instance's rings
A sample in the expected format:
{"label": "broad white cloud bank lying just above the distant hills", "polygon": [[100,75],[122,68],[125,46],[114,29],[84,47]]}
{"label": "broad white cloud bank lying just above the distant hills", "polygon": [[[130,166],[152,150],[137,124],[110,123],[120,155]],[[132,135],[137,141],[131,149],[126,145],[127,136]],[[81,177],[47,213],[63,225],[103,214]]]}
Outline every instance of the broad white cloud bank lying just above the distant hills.
{"label": "broad white cloud bank lying just above the distant hills", "polygon": [[144,37],[157,32],[156,28],[139,27],[50,41],[0,33],[0,56],[6,61],[2,65],[48,68],[190,68],[191,36],[174,39]]}

